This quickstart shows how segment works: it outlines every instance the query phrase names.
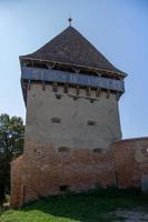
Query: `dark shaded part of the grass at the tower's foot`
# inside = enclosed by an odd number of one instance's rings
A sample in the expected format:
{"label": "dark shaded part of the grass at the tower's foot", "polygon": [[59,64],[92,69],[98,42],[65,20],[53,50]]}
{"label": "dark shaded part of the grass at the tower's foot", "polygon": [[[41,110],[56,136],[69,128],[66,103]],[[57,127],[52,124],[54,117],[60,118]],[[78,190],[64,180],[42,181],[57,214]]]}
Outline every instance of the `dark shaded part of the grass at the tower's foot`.
{"label": "dark shaded part of the grass at the tower's foot", "polygon": [[117,220],[110,212],[119,208],[136,209],[139,206],[148,209],[148,195],[132,190],[99,189],[87,193],[41,198],[26,205],[22,211],[38,210],[81,222],[110,222]]}

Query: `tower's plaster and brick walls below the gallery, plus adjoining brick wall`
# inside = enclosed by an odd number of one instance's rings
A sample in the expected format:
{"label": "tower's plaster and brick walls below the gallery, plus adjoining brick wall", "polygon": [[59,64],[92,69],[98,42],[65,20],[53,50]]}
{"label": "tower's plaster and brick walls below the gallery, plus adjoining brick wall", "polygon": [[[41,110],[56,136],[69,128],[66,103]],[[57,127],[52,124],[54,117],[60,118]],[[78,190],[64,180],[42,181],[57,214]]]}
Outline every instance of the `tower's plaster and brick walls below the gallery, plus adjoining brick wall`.
{"label": "tower's plaster and brick walls below the gallery, plus adjoining brick wall", "polygon": [[[57,95],[58,94],[58,95]],[[57,97],[60,99],[57,99]],[[91,101],[93,99],[93,101]],[[60,122],[52,122],[59,118]],[[89,125],[88,121],[93,121]],[[148,138],[120,140],[116,95],[76,89],[52,92],[31,84],[28,91],[23,158],[11,165],[12,206],[42,195],[88,190],[96,185],[146,186]],[[114,142],[114,143],[112,143]]]}

